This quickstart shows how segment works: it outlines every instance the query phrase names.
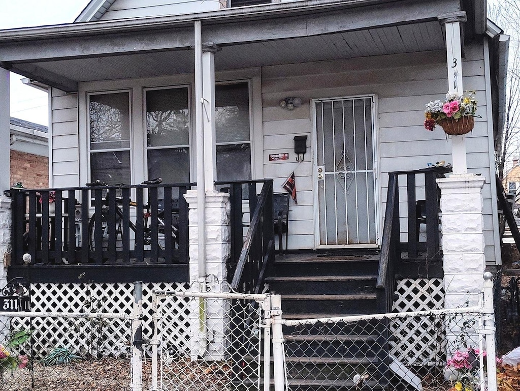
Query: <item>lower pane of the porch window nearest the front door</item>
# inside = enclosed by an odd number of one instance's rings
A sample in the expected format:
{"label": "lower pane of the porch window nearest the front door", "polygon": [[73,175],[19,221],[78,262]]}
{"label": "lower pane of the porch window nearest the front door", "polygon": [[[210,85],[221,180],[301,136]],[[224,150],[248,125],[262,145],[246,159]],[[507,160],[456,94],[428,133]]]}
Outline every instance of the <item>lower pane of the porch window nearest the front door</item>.
{"label": "lower pane of the porch window nearest the front door", "polygon": [[251,145],[217,145],[217,181],[251,179]]}

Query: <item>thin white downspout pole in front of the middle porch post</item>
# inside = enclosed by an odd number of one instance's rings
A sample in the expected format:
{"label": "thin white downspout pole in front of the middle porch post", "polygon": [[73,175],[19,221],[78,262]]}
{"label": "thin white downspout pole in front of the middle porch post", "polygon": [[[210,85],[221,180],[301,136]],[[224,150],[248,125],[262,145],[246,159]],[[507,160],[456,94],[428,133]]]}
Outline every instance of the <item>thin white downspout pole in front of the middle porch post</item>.
{"label": "thin white downspout pole in front of the middle porch post", "polygon": [[202,26],[194,22],[195,52],[195,133],[197,146],[197,240],[199,281],[206,275],[205,180],[204,180],[204,95],[202,91]]}

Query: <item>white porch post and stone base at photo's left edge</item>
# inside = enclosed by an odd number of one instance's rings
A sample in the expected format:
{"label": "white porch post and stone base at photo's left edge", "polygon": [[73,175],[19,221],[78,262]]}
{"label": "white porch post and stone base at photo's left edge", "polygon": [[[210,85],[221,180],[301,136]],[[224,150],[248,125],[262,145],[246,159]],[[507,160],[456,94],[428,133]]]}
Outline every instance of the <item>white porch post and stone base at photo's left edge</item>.
{"label": "white porch post and stone base at photo's left edge", "polygon": [[11,199],[4,196],[10,185],[9,71],[0,68],[0,287],[7,283],[11,245]]}

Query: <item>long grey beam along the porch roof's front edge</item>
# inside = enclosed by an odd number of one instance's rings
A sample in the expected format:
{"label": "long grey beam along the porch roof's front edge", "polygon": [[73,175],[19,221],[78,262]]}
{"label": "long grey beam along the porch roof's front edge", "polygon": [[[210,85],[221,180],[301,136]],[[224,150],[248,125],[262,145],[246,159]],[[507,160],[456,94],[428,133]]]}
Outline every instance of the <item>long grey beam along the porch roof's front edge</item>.
{"label": "long grey beam along the porch roof's front edge", "polygon": [[[233,45],[436,20],[439,9],[443,12],[457,12],[460,6],[454,0],[408,0],[394,1],[390,5],[384,3],[355,7],[349,4],[338,5],[333,9],[322,7],[319,12],[315,8],[292,10],[292,14],[271,11],[252,12],[252,15],[244,16],[239,15],[237,9],[237,15],[223,10],[214,12],[211,18],[204,19],[202,14],[197,19],[201,19],[203,24],[202,42]],[[197,20],[197,16],[194,15],[193,20]],[[14,64],[102,57],[186,49],[194,45],[193,25],[187,24],[185,19],[172,19],[160,26],[143,26],[142,22],[134,26],[129,23],[116,28],[119,24],[114,22],[113,29],[109,28],[109,23],[104,23],[98,29],[89,26],[85,31],[72,31],[72,27],[67,25],[58,26],[53,31],[33,33],[27,39],[18,34],[9,40],[9,35],[4,34],[0,36],[0,61]]]}

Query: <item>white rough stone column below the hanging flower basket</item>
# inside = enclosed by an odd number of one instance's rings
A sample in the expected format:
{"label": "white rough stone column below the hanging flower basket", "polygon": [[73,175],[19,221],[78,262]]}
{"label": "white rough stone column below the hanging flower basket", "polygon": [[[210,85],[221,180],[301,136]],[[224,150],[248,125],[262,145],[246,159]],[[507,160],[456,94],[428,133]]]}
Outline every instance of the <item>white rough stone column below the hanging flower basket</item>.
{"label": "white rough stone column below the hanging flower basket", "polygon": [[443,267],[445,307],[478,305],[486,268],[482,176],[437,179],[443,212]]}

